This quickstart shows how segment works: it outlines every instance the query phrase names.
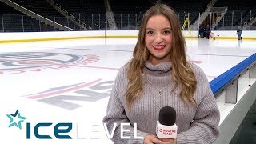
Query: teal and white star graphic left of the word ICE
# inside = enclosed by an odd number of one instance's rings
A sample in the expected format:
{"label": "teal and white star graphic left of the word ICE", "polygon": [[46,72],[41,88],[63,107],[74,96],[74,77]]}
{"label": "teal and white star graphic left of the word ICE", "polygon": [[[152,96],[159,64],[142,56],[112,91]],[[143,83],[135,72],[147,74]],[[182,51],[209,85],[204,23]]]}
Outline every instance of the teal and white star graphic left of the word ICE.
{"label": "teal and white star graphic left of the word ICE", "polygon": [[6,114],[10,119],[9,127],[16,126],[19,129],[22,129],[22,122],[26,119],[26,117],[22,117],[21,114],[16,110],[15,114]]}

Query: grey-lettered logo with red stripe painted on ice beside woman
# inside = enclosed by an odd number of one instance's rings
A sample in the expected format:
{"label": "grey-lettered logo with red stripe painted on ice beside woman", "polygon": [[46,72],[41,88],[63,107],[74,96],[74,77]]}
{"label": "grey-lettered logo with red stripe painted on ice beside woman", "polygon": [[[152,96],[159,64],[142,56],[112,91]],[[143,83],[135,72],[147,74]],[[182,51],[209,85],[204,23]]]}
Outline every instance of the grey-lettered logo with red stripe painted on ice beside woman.
{"label": "grey-lettered logo with red stripe painted on ice beside woman", "polygon": [[[54,87],[37,94],[26,95],[26,98],[58,106],[66,110],[74,110],[82,105],[80,102],[96,102],[110,96],[114,81],[97,79],[92,82],[82,82],[70,86]],[[69,94],[66,94],[69,92]]]}

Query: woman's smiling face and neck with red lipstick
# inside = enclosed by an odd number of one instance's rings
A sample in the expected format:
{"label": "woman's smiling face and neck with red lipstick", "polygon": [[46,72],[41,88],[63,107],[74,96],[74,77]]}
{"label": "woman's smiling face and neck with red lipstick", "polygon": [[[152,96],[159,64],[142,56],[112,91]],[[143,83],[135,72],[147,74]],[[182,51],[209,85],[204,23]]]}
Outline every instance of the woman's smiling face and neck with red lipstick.
{"label": "woman's smiling face and neck with red lipstick", "polygon": [[146,24],[145,43],[146,48],[150,51],[149,61],[152,64],[170,62],[172,27],[169,20],[162,14],[149,18]]}

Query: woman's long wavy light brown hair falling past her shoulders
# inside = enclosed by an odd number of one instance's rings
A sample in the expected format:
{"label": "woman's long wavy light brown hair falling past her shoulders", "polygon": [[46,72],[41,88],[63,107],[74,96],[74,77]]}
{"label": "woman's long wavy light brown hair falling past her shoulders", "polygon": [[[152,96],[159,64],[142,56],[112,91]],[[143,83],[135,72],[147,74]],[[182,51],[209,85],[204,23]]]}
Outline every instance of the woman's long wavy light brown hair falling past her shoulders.
{"label": "woman's long wavy light brown hair falling past her shoulders", "polygon": [[131,109],[132,103],[139,98],[143,91],[145,82],[142,81],[142,68],[149,58],[150,52],[146,48],[145,34],[146,24],[154,15],[162,14],[170,22],[172,27],[172,48],[170,50],[170,61],[172,63],[171,77],[174,80],[174,90],[181,86],[180,97],[186,104],[192,103],[194,106],[194,92],[197,81],[190,64],[186,60],[186,43],[179,26],[178,16],[169,6],[156,4],[146,11],[142,18],[142,24],[138,32],[138,41],[134,48],[133,58],[128,63],[128,88],[126,90],[126,105]]}

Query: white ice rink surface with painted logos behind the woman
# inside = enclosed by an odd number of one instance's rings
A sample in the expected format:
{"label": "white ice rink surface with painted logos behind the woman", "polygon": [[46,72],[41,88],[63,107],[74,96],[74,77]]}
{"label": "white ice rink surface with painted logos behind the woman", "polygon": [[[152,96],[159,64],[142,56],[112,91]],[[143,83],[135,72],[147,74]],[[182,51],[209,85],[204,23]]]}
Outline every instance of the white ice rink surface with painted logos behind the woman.
{"label": "white ice rink surface with painted logos behind the woman", "polygon": [[[80,39],[0,44],[0,129],[2,142],[111,143],[102,118],[118,69],[132,57],[135,38]],[[209,82],[256,52],[256,41],[186,39],[187,54]],[[21,129],[10,126],[20,114]],[[17,117],[15,117],[17,118]],[[23,118],[23,119],[22,119]],[[40,127],[38,123],[52,123]],[[54,136],[58,123],[72,123],[73,139]],[[30,139],[27,139],[30,123]],[[3,133],[5,132],[5,133]]]}

